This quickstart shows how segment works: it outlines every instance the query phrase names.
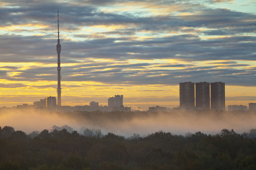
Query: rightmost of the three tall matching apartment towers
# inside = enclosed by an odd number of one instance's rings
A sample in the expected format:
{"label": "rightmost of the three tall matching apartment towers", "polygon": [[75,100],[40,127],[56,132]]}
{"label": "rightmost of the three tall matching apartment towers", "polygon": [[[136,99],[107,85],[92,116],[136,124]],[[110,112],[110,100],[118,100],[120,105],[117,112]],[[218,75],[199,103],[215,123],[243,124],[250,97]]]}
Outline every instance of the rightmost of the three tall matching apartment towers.
{"label": "rightmost of the three tall matching apartment towers", "polygon": [[212,110],[225,111],[225,83],[210,83],[210,104]]}

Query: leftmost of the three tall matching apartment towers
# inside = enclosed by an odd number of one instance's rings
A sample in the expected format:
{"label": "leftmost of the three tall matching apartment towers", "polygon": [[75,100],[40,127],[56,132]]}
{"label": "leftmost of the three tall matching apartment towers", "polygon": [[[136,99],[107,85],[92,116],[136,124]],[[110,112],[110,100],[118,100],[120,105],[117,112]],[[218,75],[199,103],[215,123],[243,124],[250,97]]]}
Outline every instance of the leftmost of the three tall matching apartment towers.
{"label": "leftmost of the three tall matching apartment towers", "polygon": [[180,108],[195,107],[195,83],[180,83]]}

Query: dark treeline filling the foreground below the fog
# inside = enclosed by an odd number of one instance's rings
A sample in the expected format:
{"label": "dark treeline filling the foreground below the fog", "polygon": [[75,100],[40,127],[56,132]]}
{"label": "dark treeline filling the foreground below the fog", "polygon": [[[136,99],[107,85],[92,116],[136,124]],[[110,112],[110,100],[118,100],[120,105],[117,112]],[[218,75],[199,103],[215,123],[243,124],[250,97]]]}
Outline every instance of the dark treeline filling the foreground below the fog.
{"label": "dark treeline filling the foreground below the fog", "polygon": [[255,129],[130,138],[90,129],[29,135],[0,129],[0,169],[256,169]]}

